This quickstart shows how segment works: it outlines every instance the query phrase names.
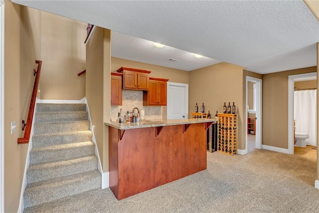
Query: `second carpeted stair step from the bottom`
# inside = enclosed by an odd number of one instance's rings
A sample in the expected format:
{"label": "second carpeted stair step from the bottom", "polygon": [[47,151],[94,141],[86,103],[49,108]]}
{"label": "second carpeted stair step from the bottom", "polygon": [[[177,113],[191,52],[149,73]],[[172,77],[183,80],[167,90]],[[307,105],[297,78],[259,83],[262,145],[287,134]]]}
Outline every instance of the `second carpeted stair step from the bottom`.
{"label": "second carpeted stair step from the bottom", "polygon": [[95,155],[66,161],[53,161],[41,164],[31,164],[27,169],[27,183],[45,181],[51,178],[77,174],[96,169],[98,160]]}

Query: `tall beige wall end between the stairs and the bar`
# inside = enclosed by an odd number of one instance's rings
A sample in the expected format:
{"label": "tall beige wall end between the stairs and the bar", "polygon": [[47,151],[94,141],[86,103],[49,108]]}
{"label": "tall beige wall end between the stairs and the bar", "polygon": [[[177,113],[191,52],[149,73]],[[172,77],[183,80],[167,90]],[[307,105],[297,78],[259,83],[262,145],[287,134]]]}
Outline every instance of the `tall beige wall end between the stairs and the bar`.
{"label": "tall beige wall end between the stairs and the bar", "polygon": [[110,119],[111,32],[96,27],[86,45],[86,98],[102,163],[103,172],[109,168],[108,127]]}

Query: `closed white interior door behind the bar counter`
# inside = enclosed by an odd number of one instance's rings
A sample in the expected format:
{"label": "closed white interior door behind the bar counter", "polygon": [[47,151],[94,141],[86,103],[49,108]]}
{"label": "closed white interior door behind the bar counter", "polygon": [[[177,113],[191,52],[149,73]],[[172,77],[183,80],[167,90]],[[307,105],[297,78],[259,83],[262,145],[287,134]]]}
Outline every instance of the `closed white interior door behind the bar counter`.
{"label": "closed white interior door behind the bar counter", "polygon": [[188,118],[188,84],[167,82],[167,119]]}

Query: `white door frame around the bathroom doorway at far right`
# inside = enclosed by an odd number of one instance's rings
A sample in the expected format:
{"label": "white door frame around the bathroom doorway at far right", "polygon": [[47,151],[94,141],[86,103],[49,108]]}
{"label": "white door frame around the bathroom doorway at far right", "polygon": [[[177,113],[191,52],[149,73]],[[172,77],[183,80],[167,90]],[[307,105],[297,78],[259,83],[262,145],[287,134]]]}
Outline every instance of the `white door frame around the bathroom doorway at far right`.
{"label": "white door frame around the bathroom doorway at far right", "polygon": [[290,75],[288,77],[288,153],[295,154],[295,125],[294,125],[294,92],[295,81],[317,79],[317,72]]}

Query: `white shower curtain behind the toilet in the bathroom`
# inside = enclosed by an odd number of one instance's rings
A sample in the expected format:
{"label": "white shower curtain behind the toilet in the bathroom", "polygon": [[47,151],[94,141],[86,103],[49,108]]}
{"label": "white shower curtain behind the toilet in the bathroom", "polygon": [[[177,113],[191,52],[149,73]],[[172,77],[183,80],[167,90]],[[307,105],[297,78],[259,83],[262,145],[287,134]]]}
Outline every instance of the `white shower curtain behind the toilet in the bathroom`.
{"label": "white shower curtain behind the toilet in the bathroom", "polygon": [[317,89],[295,91],[296,132],[308,133],[307,145],[317,147]]}

